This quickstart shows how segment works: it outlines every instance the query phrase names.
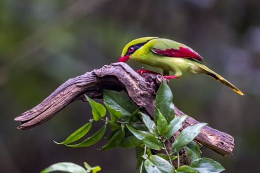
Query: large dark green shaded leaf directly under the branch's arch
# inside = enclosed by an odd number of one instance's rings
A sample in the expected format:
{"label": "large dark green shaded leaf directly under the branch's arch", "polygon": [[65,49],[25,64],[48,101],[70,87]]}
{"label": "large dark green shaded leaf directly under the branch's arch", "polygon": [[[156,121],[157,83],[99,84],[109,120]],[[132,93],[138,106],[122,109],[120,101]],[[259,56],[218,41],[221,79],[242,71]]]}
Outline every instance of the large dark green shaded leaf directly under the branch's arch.
{"label": "large dark green shaded leaf directly under the branch's arch", "polygon": [[122,112],[122,119],[127,121],[137,106],[126,95],[120,92],[103,89],[104,102],[116,111]]}

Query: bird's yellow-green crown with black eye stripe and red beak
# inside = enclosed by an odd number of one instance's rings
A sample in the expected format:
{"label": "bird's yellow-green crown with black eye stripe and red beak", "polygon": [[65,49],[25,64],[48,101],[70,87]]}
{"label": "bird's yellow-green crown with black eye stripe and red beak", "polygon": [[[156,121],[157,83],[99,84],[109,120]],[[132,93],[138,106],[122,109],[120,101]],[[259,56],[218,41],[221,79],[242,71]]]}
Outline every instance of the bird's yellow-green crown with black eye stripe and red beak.
{"label": "bird's yellow-green crown with black eye stripe and red beak", "polygon": [[126,62],[129,60],[131,54],[133,54],[138,48],[142,47],[145,43],[152,39],[158,39],[158,37],[142,37],[129,42],[124,47],[122,55],[119,58],[119,62]]}

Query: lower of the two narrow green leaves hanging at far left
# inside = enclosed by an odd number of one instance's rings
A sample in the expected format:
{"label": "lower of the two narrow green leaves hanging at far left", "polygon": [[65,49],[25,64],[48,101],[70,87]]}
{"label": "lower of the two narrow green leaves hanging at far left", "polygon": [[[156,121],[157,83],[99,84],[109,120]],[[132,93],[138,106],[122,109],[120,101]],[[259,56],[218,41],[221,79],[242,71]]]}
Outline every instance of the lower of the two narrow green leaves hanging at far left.
{"label": "lower of the two narrow green leaves hanging at far left", "polygon": [[69,147],[73,147],[73,148],[76,148],[76,147],[87,147],[87,146],[93,145],[96,142],[98,142],[104,136],[105,132],[106,132],[106,125],[103,126],[97,132],[95,132],[92,136],[90,136],[87,139],[85,139],[84,141],[82,141],[81,143],[74,144],[74,145],[68,145],[68,144],[65,144],[65,145],[69,146]]}

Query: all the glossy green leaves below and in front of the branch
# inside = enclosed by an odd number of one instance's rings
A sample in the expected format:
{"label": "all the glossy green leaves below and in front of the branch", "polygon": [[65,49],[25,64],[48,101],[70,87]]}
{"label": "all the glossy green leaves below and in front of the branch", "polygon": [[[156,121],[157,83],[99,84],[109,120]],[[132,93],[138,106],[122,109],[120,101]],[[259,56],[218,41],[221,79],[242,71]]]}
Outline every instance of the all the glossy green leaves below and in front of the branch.
{"label": "all the glossy green leaves below and in front of the branch", "polygon": [[[87,96],[86,98],[92,108],[93,118],[69,135],[63,142],[56,142],[57,144],[64,144],[68,147],[93,145],[102,139],[107,130],[107,124],[109,124],[111,133],[105,137],[108,142],[98,150],[110,150],[117,146],[135,147],[137,155],[136,173],[220,173],[224,170],[216,161],[201,158],[199,145],[193,141],[201,129],[207,125],[206,123],[189,126],[176,135],[176,131],[182,128],[182,124],[188,116],[175,117],[173,94],[165,81],[157,91],[153,119],[140,112],[130,98],[120,92],[103,90],[104,105]],[[109,116],[104,119],[107,111]],[[91,129],[94,121],[104,121],[104,126],[81,142],[71,144],[83,138]],[[174,142],[169,150],[166,148],[166,141],[170,139],[174,139]],[[186,150],[191,160],[190,165],[180,166],[179,164],[179,152],[183,149]],[[151,150],[160,152],[159,154],[152,154]],[[176,168],[173,167],[174,160],[177,162]],[[85,167],[89,172],[99,171],[86,165],[87,163],[85,163]],[[60,169],[61,167],[62,169]],[[65,167],[68,169],[75,167],[75,169],[86,171],[83,167],[75,166],[72,163],[58,163],[45,169],[45,172],[43,170],[43,173],[58,169],[65,171]]]}

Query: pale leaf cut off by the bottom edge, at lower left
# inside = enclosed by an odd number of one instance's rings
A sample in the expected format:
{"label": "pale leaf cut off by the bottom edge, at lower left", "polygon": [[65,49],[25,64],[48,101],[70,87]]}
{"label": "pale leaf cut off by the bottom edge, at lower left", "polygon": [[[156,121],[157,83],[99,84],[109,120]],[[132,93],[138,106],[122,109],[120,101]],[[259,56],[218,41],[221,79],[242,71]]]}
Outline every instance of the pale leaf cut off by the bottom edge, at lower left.
{"label": "pale leaf cut off by the bottom edge, at lower left", "polygon": [[62,171],[66,173],[87,173],[85,168],[70,162],[60,162],[53,164],[41,171],[41,173],[50,173],[54,171]]}

